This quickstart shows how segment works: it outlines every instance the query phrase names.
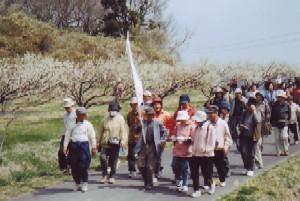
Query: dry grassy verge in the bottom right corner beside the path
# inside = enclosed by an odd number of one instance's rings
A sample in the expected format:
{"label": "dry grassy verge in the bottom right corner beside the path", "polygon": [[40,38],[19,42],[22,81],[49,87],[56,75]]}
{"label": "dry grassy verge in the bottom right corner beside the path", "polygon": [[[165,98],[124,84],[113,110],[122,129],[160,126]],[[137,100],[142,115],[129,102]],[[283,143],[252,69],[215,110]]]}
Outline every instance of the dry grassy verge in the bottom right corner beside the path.
{"label": "dry grassy verge in the bottom right corner beside the path", "polygon": [[300,154],[249,180],[220,201],[292,201],[300,196]]}

